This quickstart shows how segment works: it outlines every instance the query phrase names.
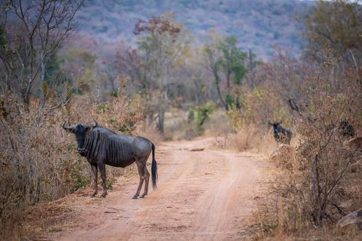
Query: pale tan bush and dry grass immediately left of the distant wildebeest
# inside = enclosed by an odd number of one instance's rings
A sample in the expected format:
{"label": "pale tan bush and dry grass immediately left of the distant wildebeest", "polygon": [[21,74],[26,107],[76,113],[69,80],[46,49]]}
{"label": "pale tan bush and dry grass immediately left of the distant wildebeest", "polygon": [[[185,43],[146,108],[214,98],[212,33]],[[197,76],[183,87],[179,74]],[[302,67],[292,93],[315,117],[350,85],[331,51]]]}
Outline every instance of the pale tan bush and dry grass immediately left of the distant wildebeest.
{"label": "pale tan bush and dry grass immediately left of the distant wildebeest", "polygon": [[276,147],[268,121],[283,121],[290,125],[292,118],[288,107],[283,105],[274,90],[263,85],[253,89],[243,86],[241,102],[241,109],[234,108],[227,113],[232,120],[233,132],[221,139],[223,145],[238,151],[252,151],[266,158]]}

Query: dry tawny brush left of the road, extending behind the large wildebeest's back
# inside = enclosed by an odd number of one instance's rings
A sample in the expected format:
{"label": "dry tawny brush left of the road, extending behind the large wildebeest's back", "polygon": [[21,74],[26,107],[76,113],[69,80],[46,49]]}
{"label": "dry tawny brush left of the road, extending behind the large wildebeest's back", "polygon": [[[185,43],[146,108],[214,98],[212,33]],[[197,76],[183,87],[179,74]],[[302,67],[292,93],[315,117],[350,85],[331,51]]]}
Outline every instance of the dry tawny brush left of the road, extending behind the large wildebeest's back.
{"label": "dry tawny brush left of the road, extending behind the large wildebeest's back", "polygon": [[[0,236],[14,231],[26,207],[90,184],[89,164],[77,154],[74,137],[61,128],[63,120],[91,123],[95,118],[130,134],[143,119],[124,96],[106,102],[80,97],[52,111],[34,100],[28,112],[11,96],[1,96],[0,112]],[[108,187],[121,173],[108,168]]]}

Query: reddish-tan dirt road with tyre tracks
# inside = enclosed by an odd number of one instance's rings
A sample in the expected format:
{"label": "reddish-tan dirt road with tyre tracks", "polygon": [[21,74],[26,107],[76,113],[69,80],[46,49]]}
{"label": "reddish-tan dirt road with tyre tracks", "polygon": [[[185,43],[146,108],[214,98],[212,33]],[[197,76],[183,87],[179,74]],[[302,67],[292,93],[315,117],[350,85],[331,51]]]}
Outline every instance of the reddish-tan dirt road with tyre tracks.
{"label": "reddish-tan dirt road with tyre tracks", "polygon": [[[263,185],[263,160],[209,148],[210,139],[156,149],[158,189],[133,200],[138,177],[107,198],[74,200],[76,215],[46,240],[241,240]],[[203,151],[190,151],[205,148]],[[150,169],[150,166],[148,167]],[[90,191],[90,190],[88,190]]]}

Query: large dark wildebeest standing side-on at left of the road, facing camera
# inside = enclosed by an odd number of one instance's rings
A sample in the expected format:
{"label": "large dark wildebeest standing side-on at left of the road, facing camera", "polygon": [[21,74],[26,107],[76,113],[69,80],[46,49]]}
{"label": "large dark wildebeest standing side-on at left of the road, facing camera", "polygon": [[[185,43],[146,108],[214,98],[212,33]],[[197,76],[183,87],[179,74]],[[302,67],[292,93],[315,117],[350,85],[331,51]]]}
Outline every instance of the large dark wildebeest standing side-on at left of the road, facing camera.
{"label": "large dark wildebeest standing side-on at left of the road, facing camera", "polygon": [[[66,121],[61,125],[67,132],[75,134],[78,144],[78,152],[87,158],[94,176],[94,192],[92,198],[98,193],[97,179],[98,169],[101,173],[103,193],[100,198],[105,198],[107,189],[105,187],[105,165],[113,167],[127,167],[136,162],[139,171],[139,187],[133,198],[139,196],[143,180],[145,191],[140,196],[144,198],[148,193],[148,182],[150,173],[146,163],[152,151],[152,187],[157,187],[157,163],[154,159],[154,144],[141,136],[126,136],[112,132],[110,129],[101,127],[97,121],[94,125],[72,125],[66,127]],[[98,169],[97,169],[98,168]]]}

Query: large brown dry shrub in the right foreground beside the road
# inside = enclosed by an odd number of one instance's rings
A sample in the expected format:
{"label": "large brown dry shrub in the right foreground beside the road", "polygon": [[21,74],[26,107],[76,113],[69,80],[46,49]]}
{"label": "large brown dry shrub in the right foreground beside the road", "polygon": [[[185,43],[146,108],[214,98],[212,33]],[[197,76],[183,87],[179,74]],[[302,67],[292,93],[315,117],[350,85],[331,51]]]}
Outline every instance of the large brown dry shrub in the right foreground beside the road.
{"label": "large brown dry shrub in the right foreground beside the road", "polygon": [[[278,165],[270,226],[275,233],[308,236],[307,229],[329,227],[361,207],[361,147],[345,145],[351,138],[341,132],[348,120],[360,133],[362,111],[361,72],[350,70],[338,78],[332,63],[323,65],[310,83],[308,111],[296,131],[299,143],[285,153],[289,163]],[[322,77],[323,76],[323,77]],[[332,81],[334,87],[330,85]],[[288,158],[289,157],[289,158]],[[285,160],[284,160],[285,162]]]}

